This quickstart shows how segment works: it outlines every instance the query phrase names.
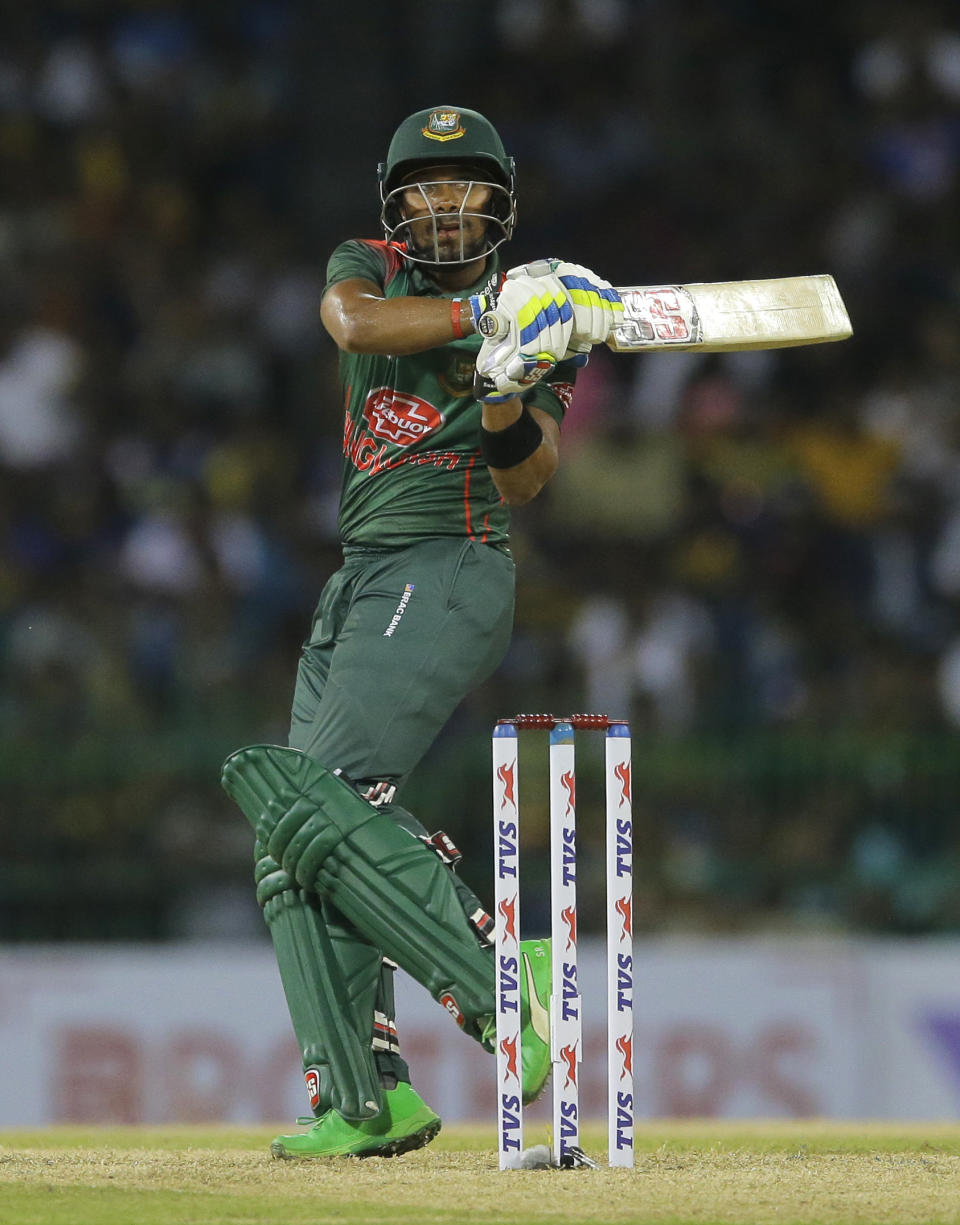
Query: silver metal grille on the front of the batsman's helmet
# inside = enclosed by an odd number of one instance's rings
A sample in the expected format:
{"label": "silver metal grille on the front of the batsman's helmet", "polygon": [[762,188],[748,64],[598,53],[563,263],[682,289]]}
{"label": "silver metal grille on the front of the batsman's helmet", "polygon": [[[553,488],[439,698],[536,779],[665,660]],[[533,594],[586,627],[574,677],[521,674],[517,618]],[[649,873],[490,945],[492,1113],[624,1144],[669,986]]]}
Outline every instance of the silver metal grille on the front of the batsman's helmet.
{"label": "silver metal grille on the front of the batsman's helmet", "polygon": [[[475,167],[470,168],[476,170]],[[513,234],[513,225],[517,218],[517,209],[513,202],[513,192],[501,183],[487,179],[463,179],[457,184],[460,195],[459,207],[442,211],[435,205],[431,189],[449,189],[446,180],[431,180],[425,178],[420,181],[400,184],[392,191],[383,191],[381,195],[383,207],[380,221],[388,243],[402,243],[404,255],[415,263],[469,263],[490,251],[496,250],[501,243],[506,243]],[[469,208],[470,197],[474,189],[486,187],[490,192],[489,202],[484,212]],[[416,217],[405,217],[403,212],[403,197],[410,192],[419,194],[424,203],[425,212],[419,212]],[[459,241],[451,246],[441,241],[441,227],[456,219]],[[480,225],[473,225],[480,222]],[[474,233],[470,234],[469,230]]]}

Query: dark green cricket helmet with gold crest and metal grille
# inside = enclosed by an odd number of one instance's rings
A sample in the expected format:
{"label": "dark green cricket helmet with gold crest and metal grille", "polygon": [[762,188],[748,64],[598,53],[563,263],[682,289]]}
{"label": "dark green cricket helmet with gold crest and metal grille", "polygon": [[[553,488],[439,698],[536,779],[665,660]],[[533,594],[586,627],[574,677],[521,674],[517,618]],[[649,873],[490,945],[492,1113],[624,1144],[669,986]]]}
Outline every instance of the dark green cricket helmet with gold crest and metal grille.
{"label": "dark green cricket helmet with gold crest and metal grille", "polygon": [[[421,198],[427,212],[420,216],[426,225],[420,224],[414,230],[403,213],[402,196],[411,175],[430,167],[459,164],[464,167],[464,183],[491,189],[490,201],[482,206],[484,212],[467,208],[469,190],[463,194],[457,209],[460,218],[485,223],[482,236],[471,239],[471,246],[467,245],[463,228],[459,229],[459,245],[449,241],[441,244],[438,217],[448,219],[451,212],[449,208],[446,213],[436,209],[426,191],[421,191]],[[387,160],[380,163],[377,176],[383,233],[388,241],[403,244],[407,257],[418,263],[465,263],[492,251],[513,234],[517,222],[513,158],[507,156],[490,120],[475,110],[433,107],[409,115],[393,134]],[[418,178],[418,185],[427,187],[429,181]]]}

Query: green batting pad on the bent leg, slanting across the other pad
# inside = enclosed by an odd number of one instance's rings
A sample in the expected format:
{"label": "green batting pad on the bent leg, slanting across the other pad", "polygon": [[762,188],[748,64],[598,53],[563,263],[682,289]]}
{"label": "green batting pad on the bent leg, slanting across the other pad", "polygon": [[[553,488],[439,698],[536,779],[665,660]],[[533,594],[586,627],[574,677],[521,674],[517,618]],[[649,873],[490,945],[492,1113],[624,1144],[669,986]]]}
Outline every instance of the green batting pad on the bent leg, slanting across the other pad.
{"label": "green batting pad on the bent leg, slanting across the other pad", "polygon": [[495,1006],[493,962],[425,843],[296,748],[241,748],[224,763],[223,785],[284,871],[329,898],[480,1039]]}

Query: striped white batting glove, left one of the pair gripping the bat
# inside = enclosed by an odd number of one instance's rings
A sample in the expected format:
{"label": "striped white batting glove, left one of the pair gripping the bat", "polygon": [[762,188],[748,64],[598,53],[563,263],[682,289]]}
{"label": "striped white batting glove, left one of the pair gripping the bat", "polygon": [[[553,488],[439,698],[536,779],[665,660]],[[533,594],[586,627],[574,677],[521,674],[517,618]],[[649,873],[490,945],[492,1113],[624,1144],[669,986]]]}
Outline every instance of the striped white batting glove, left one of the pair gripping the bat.
{"label": "striped white batting glove, left one of the pair gripping the bat", "polygon": [[504,281],[492,309],[476,320],[478,399],[496,403],[527,391],[563,359],[573,333],[573,306],[560,282],[518,274]]}

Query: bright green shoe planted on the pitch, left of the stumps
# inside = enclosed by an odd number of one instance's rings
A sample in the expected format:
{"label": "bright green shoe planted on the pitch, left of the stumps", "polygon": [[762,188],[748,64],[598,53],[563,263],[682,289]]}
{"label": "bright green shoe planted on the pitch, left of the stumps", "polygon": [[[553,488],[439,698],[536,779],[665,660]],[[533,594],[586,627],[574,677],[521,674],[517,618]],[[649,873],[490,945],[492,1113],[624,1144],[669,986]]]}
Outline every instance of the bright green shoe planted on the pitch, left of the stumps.
{"label": "bright green shoe planted on the pitch, left of the stumps", "polygon": [[349,1120],[328,1110],[298,1136],[278,1136],[271,1153],[278,1160],[307,1156],[399,1156],[429,1144],[441,1127],[440,1117],[409,1084],[383,1091],[383,1110],[376,1118]]}

